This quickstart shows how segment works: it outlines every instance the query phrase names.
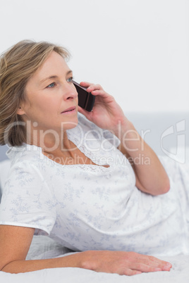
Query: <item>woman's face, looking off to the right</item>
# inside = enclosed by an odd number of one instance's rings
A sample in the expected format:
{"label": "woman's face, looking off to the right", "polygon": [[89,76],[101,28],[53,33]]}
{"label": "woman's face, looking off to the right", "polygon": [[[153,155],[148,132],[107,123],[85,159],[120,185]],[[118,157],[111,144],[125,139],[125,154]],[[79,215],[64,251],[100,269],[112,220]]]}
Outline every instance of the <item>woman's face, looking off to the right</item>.
{"label": "woman's face, looking off to the right", "polygon": [[72,71],[64,59],[53,51],[25,88],[25,101],[18,109],[33,130],[60,132],[78,123],[78,93]]}

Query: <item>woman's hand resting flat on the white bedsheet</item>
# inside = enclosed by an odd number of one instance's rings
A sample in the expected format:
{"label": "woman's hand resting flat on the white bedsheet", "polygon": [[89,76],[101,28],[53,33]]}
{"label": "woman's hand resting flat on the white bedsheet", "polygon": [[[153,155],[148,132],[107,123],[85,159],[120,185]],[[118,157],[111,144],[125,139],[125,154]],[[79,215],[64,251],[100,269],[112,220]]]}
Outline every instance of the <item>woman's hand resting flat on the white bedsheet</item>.
{"label": "woman's hand resting flat on the white bedsheet", "polygon": [[126,251],[85,251],[85,260],[81,268],[97,272],[118,273],[119,275],[137,275],[142,272],[169,271],[171,263]]}

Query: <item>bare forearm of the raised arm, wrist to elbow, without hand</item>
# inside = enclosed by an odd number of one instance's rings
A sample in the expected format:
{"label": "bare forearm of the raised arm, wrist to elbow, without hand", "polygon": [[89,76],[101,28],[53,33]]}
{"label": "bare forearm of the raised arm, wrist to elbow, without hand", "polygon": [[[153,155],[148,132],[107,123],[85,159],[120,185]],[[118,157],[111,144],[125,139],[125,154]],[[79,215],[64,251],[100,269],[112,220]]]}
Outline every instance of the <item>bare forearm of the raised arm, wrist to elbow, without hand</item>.
{"label": "bare forearm of the raised arm, wrist to elbow, without hand", "polygon": [[154,151],[128,122],[118,133],[119,149],[135,171],[136,187],[145,193],[158,195],[169,191],[169,177]]}

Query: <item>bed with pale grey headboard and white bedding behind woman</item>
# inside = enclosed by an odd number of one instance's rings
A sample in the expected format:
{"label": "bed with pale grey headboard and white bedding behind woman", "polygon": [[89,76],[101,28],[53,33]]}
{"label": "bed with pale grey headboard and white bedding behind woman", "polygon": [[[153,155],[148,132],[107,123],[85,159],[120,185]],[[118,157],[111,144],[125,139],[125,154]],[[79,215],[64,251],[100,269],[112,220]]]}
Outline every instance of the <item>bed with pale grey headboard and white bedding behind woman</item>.
{"label": "bed with pale grey headboard and white bedding behind woman", "polygon": [[[148,130],[146,140],[157,154],[169,155],[169,153],[171,153],[172,158],[178,158],[179,162],[183,163],[183,166],[185,166],[189,174],[189,137],[187,132],[189,124],[188,113],[138,113],[138,115],[130,113],[128,116],[130,120],[134,121],[134,125],[139,132],[142,130],[144,132]],[[178,123],[181,121],[184,121],[183,125],[185,125],[185,127],[182,127],[179,130]],[[170,129],[173,129],[172,132]],[[168,134],[165,135],[165,132]],[[181,142],[181,139],[178,139],[178,135],[181,134],[183,134],[184,137],[183,144],[178,144],[178,141]],[[164,144],[161,140],[162,137],[164,137]],[[162,146],[164,148],[162,148]],[[10,166],[10,162],[6,158],[6,150],[6,146],[0,146],[0,188],[4,186],[4,181]],[[35,236],[33,237],[27,259],[54,258],[59,256],[68,256],[69,254],[70,251],[68,251],[68,249],[60,246],[52,239],[45,236]],[[189,255],[181,254],[172,257],[161,257],[161,259],[172,263],[173,268],[170,272],[150,272],[129,277],[124,275],[121,276],[103,272],[94,272],[92,270],[84,270],[81,268],[54,268],[13,275],[6,272],[0,272],[0,282],[188,283]]]}

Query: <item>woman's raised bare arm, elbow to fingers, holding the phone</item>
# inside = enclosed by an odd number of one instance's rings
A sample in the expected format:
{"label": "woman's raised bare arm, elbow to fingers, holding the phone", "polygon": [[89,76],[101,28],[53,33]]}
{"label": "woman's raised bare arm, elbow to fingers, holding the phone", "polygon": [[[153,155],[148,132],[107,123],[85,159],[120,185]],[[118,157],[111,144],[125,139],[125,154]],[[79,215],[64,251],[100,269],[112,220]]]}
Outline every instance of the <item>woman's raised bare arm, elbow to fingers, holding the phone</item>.
{"label": "woman's raised bare arm, elbow to fingers, holding the phone", "polygon": [[110,130],[121,140],[120,150],[128,158],[136,176],[136,186],[145,193],[158,195],[169,191],[169,177],[159,158],[126,118],[113,96],[99,84],[82,82],[96,96],[92,112],[78,108],[87,119],[102,129]]}

